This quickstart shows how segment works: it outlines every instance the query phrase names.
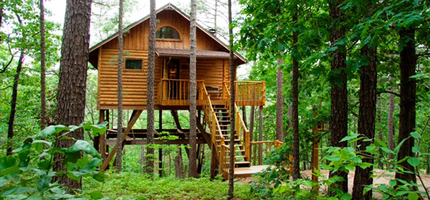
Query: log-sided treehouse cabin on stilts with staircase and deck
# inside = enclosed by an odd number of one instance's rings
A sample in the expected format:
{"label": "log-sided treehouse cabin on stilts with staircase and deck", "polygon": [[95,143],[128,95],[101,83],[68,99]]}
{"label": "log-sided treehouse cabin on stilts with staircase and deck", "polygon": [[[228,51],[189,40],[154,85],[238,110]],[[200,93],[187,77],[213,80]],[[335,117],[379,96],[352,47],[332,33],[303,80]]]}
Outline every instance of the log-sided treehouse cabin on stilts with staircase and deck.
{"label": "log-sided treehouse cabin on stilts with staircase and deck", "polygon": [[[189,130],[182,129],[176,110],[189,108],[189,60],[190,60],[190,18],[172,4],[157,11],[156,56],[154,101],[156,110],[171,110],[177,129],[163,129],[162,123],[156,130],[154,143],[187,144]],[[147,109],[147,62],[148,62],[149,15],[129,25],[124,31],[123,51],[123,109],[133,110],[129,123],[120,138],[123,144],[146,144],[147,130],[133,129],[142,110]],[[98,70],[97,107],[100,119],[109,121],[109,110],[117,109],[117,34],[89,49],[89,62]],[[240,54],[234,53],[234,65],[246,63]],[[197,143],[207,143],[215,160],[213,169],[219,164],[220,173],[228,174],[229,111],[236,113],[237,154],[235,167],[250,167],[249,131],[243,122],[237,106],[263,106],[265,87],[263,81],[235,81],[236,105],[230,107],[230,73],[228,46],[215,35],[197,24]],[[203,110],[203,117],[202,117]],[[160,117],[162,118],[162,112]],[[112,120],[113,121],[113,120]],[[158,140],[158,133],[169,131],[180,139]],[[107,134],[95,140],[95,146],[105,158],[107,167],[116,148],[114,125]],[[276,146],[276,144],[275,144]],[[200,148],[200,147],[199,147]],[[239,176],[239,175],[238,175]]]}

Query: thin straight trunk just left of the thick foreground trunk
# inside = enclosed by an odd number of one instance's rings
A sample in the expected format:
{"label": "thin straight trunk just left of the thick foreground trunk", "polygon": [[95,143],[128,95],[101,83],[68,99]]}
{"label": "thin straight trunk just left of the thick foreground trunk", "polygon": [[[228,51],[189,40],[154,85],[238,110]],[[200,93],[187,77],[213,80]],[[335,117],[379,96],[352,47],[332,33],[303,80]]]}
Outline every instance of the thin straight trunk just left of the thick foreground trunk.
{"label": "thin straight trunk just left of the thick foreground trunk", "polygon": [[46,126],[45,7],[43,1],[40,0],[40,129],[42,130]]}

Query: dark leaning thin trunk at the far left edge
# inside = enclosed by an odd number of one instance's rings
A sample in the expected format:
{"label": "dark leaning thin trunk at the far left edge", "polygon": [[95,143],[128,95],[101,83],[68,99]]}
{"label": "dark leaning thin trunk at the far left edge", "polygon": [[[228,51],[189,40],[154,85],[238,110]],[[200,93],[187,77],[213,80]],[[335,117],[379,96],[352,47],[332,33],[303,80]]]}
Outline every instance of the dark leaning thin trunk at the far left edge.
{"label": "dark leaning thin trunk at the far left edge", "polygon": [[13,138],[13,122],[15,122],[16,113],[16,98],[18,96],[18,83],[19,76],[21,75],[22,63],[24,62],[24,50],[21,50],[18,60],[18,66],[16,67],[15,77],[13,78],[12,87],[12,100],[10,101],[10,115],[9,115],[9,126],[7,128],[7,152],[6,155],[12,155],[12,138]]}

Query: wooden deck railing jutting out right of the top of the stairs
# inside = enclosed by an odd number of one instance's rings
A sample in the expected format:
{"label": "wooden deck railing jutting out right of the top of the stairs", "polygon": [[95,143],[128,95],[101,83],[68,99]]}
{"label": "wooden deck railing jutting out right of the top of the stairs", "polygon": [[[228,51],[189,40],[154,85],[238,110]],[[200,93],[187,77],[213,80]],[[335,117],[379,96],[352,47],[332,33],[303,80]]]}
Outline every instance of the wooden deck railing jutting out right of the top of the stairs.
{"label": "wooden deck railing jutting out right of the top of the stairs", "polygon": [[[224,82],[228,84],[229,82]],[[266,104],[266,83],[264,81],[234,81],[235,101],[241,105],[264,105]],[[223,99],[227,92],[223,90]]]}

